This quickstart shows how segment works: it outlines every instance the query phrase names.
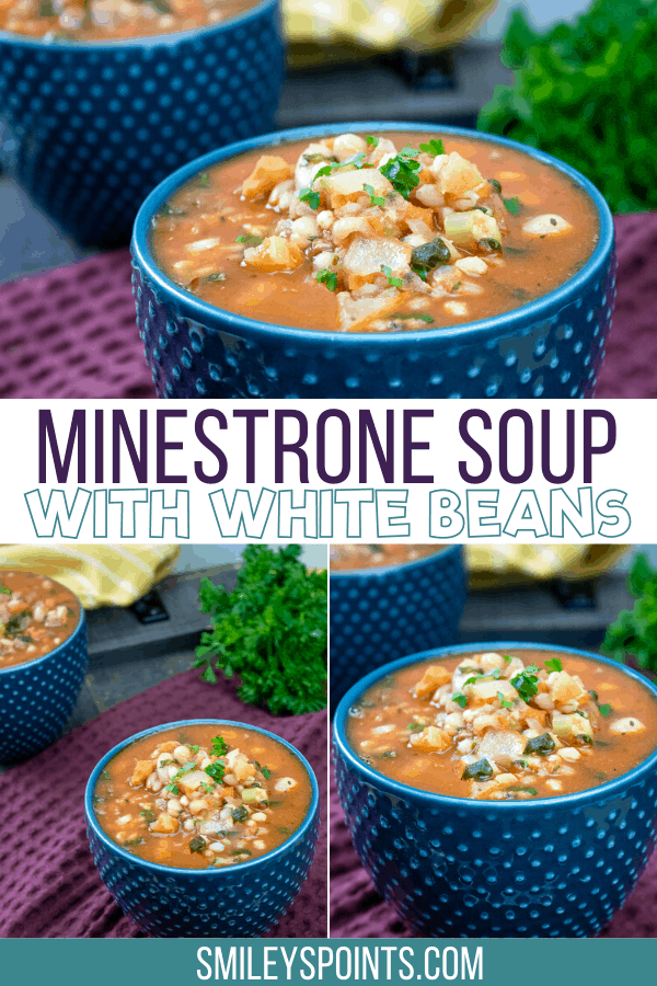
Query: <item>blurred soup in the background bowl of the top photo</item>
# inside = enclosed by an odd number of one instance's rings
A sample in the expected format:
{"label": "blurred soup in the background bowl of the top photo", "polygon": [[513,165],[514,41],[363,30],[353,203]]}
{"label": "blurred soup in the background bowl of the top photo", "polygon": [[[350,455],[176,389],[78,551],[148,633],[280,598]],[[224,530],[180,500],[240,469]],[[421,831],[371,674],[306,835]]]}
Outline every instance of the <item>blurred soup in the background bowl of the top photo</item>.
{"label": "blurred soup in the background bowl of the top photo", "polygon": [[257,0],[0,0],[0,30],[44,41],[119,41],[218,24]]}

